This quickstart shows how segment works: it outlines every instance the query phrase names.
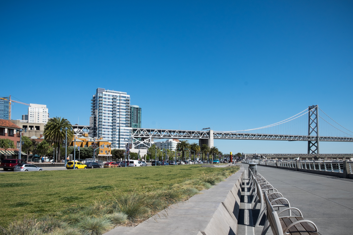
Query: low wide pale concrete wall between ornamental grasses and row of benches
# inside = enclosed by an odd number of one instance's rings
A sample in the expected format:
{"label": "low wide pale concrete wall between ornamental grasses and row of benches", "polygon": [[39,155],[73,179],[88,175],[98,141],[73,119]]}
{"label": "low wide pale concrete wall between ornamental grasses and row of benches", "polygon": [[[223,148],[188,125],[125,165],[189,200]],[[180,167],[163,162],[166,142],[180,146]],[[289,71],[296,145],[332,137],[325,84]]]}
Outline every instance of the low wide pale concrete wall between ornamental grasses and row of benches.
{"label": "low wide pale concrete wall between ornamental grasses and row of benches", "polygon": [[136,227],[116,227],[105,235],[182,234],[232,235],[238,231],[244,167],[225,181],[201,191],[185,202],[169,206]]}

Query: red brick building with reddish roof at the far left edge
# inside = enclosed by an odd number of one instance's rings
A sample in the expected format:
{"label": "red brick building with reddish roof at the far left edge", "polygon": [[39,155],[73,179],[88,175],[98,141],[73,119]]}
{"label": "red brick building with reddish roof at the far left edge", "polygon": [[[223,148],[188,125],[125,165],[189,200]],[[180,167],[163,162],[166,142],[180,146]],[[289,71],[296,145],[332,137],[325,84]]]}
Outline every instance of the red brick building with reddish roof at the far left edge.
{"label": "red brick building with reddish roof at the far left edge", "polygon": [[18,125],[13,124],[9,120],[0,119],[0,138],[10,139],[15,145],[14,149],[1,149],[0,148],[0,160],[4,158],[18,158],[18,151],[20,147],[20,132],[17,131],[21,129]]}

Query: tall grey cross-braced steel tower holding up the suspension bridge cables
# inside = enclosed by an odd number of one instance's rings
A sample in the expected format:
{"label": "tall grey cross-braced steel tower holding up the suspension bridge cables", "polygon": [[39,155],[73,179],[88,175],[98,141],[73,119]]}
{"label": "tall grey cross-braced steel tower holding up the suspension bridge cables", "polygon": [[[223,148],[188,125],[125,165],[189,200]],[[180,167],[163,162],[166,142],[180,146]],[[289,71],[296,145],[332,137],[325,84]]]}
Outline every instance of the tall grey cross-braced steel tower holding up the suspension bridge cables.
{"label": "tall grey cross-braced steel tower holding up the suspension bridge cables", "polygon": [[316,141],[308,141],[308,154],[319,154],[319,106],[309,106],[308,135],[315,136]]}

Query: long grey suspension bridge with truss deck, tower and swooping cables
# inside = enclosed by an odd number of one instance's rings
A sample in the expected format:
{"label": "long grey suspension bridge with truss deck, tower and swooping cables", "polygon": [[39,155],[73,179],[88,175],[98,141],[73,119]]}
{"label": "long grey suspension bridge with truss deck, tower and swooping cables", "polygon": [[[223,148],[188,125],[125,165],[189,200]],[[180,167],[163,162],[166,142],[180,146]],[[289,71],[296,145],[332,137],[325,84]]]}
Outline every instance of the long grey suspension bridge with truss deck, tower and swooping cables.
{"label": "long grey suspension bridge with truss deck, tower and swooping cables", "polygon": [[[304,135],[304,133],[307,135]],[[312,105],[297,115],[281,122],[255,129],[238,131],[214,131],[209,129],[195,131],[133,128],[132,138],[134,146],[144,145],[146,147],[151,146],[152,139],[154,138],[199,140],[200,146],[207,144],[209,147],[214,146],[214,139],[307,141],[307,153],[319,154],[320,141],[353,142],[353,132],[329,117],[319,109],[318,105]]]}

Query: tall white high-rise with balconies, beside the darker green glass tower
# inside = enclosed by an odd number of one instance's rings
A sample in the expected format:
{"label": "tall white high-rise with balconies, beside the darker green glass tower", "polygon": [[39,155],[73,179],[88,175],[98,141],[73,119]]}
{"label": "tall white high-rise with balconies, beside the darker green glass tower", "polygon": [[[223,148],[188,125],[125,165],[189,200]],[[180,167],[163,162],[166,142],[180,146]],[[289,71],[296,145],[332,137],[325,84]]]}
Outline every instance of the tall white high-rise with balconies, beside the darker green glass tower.
{"label": "tall white high-rise with balconies, beside the darker green glass tower", "polygon": [[112,142],[112,148],[131,143],[130,95],[97,88],[91,99],[90,134]]}

